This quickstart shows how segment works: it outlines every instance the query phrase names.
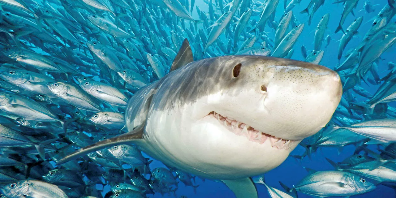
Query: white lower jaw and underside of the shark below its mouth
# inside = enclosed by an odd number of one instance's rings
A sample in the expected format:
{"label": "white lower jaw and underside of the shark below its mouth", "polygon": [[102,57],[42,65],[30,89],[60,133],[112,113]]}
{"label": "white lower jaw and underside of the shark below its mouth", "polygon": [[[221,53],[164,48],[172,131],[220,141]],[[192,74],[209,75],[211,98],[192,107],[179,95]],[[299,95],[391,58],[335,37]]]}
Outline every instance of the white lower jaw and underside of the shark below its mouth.
{"label": "white lower jaw and underside of the shark below its mouth", "polygon": [[147,120],[142,147],[148,155],[169,166],[209,179],[238,179],[259,175],[279,166],[298,145],[278,149],[267,139],[249,141],[223,128],[217,120],[192,123],[180,112],[153,112]]}

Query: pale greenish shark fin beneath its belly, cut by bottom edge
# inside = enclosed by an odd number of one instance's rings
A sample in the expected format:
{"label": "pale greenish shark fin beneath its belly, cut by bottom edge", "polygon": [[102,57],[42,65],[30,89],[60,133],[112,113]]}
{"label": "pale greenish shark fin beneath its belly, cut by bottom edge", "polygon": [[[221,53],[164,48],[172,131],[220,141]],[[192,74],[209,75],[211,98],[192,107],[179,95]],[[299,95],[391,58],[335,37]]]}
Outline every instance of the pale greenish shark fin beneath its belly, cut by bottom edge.
{"label": "pale greenish shark fin beneath its belly, cut by bottom edge", "polygon": [[258,198],[257,189],[250,177],[223,181],[236,198]]}

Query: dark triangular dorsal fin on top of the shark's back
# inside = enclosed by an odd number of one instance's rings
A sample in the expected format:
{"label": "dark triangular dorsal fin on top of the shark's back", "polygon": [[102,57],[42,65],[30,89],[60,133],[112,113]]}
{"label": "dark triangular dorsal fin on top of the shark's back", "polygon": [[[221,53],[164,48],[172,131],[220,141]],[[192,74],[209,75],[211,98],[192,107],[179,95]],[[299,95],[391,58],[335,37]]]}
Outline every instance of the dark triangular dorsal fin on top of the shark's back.
{"label": "dark triangular dorsal fin on top of the shark's back", "polygon": [[187,38],[184,39],[183,44],[179,49],[179,53],[177,53],[175,60],[173,60],[171,69],[169,72],[177,70],[188,63],[194,61],[194,57],[192,57],[192,50],[190,47],[190,43],[188,42]]}

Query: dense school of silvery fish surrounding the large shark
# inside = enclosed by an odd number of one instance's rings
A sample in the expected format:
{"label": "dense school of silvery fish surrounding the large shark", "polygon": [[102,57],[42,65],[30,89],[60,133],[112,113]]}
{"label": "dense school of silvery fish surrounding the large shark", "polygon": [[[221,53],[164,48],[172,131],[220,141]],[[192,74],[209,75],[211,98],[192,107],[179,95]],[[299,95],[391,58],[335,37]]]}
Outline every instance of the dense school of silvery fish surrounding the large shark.
{"label": "dense school of silvery fish surrounding the large shark", "polygon": [[[178,193],[180,183],[195,192],[196,176],[150,166],[153,159],[135,145],[57,164],[79,148],[128,132],[129,98],[173,70],[185,38],[194,60],[293,59],[301,50],[301,61],[320,64],[327,46],[337,44],[333,58],[339,64],[330,69],[341,78],[341,102],[322,130],[299,143],[305,152],[292,157],[314,160],[320,148],[342,152],[347,145],[355,146],[354,155],[343,162],[327,158],[334,170],[305,167],[307,176],[292,188],[281,183],[284,190],[268,186],[264,175],[252,180],[271,198],[297,198],[297,192],[346,198],[377,185],[396,189],[396,63],[381,58],[396,42],[396,4],[383,1],[382,9],[367,0],[360,10],[359,0],[327,0],[343,5],[339,13],[318,13],[325,0],[0,0],[0,197],[187,198]],[[297,10],[301,2],[309,4]],[[283,15],[276,17],[279,10]],[[355,17],[373,12],[373,21]],[[306,21],[295,17],[306,14]],[[339,25],[329,31],[331,17]],[[346,24],[347,17],[356,19]],[[371,27],[357,37],[366,22]],[[312,51],[295,45],[307,26],[316,27]],[[331,38],[336,33],[342,35],[338,43]],[[359,39],[346,51],[350,40]]]}

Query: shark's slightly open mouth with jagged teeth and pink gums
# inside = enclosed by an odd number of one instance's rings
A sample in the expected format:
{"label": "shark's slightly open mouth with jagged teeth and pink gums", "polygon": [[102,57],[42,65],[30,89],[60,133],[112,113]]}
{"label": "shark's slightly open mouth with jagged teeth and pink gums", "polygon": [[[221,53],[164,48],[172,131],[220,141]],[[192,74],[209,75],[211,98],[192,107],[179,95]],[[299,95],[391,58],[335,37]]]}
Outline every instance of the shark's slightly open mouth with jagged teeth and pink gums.
{"label": "shark's slightly open mouth with jagged teeth and pink gums", "polygon": [[294,142],[293,140],[281,139],[272,135],[268,135],[267,133],[263,133],[254,129],[253,127],[243,123],[238,122],[233,118],[228,118],[226,116],[220,115],[214,111],[210,112],[208,116],[213,116],[216,118],[221,124],[228,128],[229,131],[238,136],[244,136],[249,141],[257,142],[259,144],[264,144],[265,141],[270,141],[271,146],[278,149],[289,150],[290,146]]}

